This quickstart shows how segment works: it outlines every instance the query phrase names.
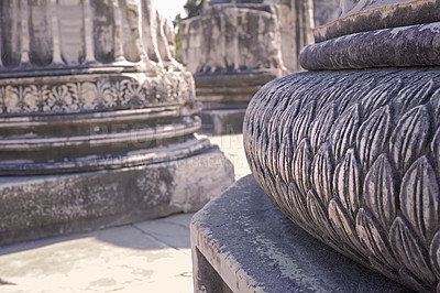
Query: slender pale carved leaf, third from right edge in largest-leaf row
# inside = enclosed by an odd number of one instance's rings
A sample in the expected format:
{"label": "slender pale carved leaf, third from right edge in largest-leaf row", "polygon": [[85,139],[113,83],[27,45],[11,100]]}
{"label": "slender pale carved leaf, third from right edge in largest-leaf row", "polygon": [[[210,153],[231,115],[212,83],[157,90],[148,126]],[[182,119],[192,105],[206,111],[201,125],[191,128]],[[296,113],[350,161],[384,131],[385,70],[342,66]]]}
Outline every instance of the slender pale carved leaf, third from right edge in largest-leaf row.
{"label": "slender pale carved leaf, third from right edge in largest-leaf row", "polygon": [[354,149],[349,149],[344,160],[336,167],[333,177],[334,195],[341,200],[354,220],[361,200],[361,167]]}

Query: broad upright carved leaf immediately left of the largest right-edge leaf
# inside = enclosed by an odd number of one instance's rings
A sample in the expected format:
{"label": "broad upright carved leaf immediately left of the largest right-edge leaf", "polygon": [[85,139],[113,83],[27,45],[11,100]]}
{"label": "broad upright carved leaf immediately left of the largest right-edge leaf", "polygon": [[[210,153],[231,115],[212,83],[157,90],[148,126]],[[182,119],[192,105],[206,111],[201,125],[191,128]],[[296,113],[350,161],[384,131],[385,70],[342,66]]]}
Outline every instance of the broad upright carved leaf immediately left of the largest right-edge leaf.
{"label": "broad upright carved leaf immediately left of the largest right-edge leaf", "polygon": [[363,195],[366,206],[384,229],[392,226],[397,215],[396,188],[392,165],[382,154],[366,173]]}

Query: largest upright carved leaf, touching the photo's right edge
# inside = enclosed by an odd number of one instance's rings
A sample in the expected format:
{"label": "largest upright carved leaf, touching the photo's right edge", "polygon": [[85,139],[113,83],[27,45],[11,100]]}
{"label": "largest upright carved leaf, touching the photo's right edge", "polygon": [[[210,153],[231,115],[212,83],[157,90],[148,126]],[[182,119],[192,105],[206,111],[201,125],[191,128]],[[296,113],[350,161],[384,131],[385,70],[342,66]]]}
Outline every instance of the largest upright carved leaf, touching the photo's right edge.
{"label": "largest upright carved leaf, touching the photo's right edge", "polygon": [[422,241],[429,243],[439,228],[439,185],[425,155],[405,174],[399,198],[405,218],[419,232]]}

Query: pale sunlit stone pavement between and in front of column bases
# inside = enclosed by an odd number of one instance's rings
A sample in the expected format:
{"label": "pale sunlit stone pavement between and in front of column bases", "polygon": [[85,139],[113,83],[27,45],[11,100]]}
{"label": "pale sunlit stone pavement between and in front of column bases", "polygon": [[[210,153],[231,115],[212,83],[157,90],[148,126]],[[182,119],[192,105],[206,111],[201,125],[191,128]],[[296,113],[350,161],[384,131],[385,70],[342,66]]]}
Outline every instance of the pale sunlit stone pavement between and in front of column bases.
{"label": "pale sunlit stone pavement between and in front of column bases", "polygon": [[[250,173],[242,135],[211,137]],[[0,292],[193,292],[193,214],[0,248]]]}

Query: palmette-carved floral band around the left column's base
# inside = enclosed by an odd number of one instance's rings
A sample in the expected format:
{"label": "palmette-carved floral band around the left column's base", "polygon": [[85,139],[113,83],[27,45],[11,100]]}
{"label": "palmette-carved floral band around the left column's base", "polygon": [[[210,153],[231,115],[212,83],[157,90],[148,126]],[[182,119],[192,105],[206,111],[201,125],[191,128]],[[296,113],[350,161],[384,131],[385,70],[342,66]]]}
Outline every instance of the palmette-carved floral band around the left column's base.
{"label": "palmette-carved floral band around the left column's base", "polygon": [[187,72],[162,68],[123,73],[118,68],[67,70],[34,77],[0,78],[0,117],[141,109],[194,99]]}

